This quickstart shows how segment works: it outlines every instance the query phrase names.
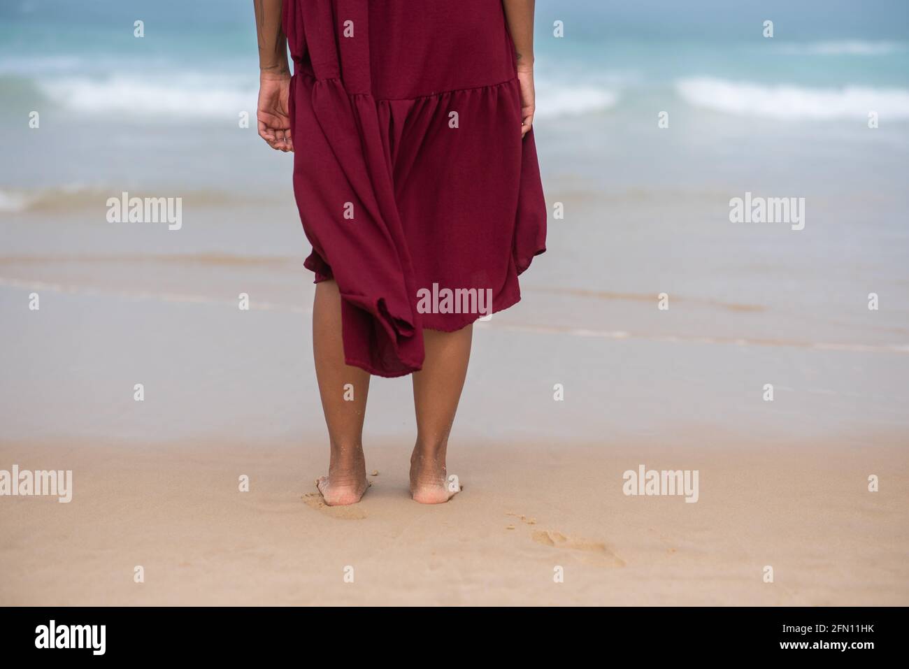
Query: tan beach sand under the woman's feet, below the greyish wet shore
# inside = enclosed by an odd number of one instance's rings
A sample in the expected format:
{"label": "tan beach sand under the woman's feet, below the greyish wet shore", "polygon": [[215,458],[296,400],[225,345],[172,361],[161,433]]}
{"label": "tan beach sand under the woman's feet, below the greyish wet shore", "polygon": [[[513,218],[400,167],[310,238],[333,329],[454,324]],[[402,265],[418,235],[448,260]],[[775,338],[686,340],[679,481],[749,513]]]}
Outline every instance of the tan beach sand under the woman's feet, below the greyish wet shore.
{"label": "tan beach sand under the woman's feet, below the greyish wet shore", "polygon": [[[374,444],[349,507],[315,493],[317,439],[6,443],[0,468],[72,469],[74,498],[0,499],[0,604],[909,604],[905,444],[868,443],[452,444],[464,490],[436,506]],[[699,501],[625,496],[638,464],[698,469]]]}

